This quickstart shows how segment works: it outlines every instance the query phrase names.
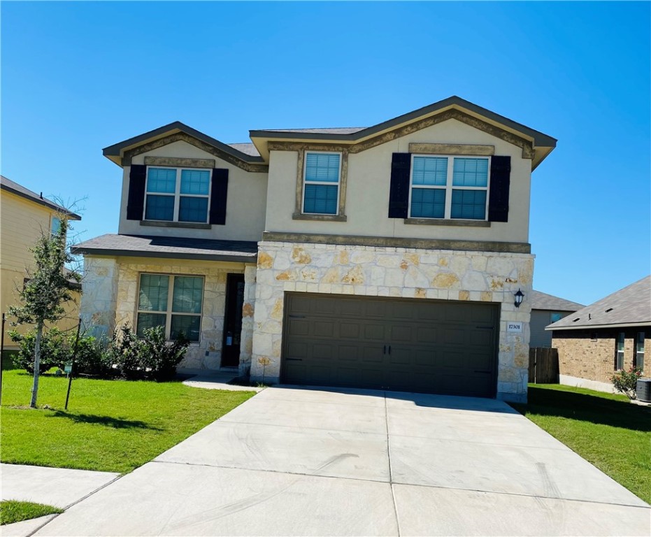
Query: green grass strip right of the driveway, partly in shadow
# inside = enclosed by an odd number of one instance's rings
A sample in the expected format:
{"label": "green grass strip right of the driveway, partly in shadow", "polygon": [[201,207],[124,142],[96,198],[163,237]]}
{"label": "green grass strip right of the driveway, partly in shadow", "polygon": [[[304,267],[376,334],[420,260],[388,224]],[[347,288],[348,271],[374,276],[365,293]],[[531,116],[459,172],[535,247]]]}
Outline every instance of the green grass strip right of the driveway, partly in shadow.
{"label": "green grass strip right of the driveway, partly in shadow", "polygon": [[603,473],[651,503],[651,408],[624,395],[564,385],[529,385],[513,404]]}

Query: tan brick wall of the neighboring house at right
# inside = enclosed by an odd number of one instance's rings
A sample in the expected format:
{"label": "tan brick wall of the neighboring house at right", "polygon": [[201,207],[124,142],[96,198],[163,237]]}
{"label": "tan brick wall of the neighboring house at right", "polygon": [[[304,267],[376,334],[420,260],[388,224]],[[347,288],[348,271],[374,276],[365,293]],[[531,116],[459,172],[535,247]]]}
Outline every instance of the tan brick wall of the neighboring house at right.
{"label": "tan brick wall of the neighboring house at right", "polygon": [[[635,338],[638,329],[608,330],[557,330],[554,331],[552,347],[558,349],[559,373],[575,378],[608,382],[615,373],[615,347],[617,334],[624,331],[624,369],[633,366]],[[596,341],[591,336],[596,335]],[[646,336],[651,330],[646,329]],[[648,351],[647,351],[648,354]],[[645,356],[645,358],[647,358]],[[651,375],[651,358],[645,359],[644,375]]]}

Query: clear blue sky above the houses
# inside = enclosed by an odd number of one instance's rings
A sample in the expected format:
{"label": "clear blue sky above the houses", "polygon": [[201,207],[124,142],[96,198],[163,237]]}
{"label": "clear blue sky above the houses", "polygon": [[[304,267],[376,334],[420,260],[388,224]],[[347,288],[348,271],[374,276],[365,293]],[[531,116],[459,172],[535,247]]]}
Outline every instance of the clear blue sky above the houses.
{"label": "clear blue sky above the houses", "polygon": [[534,287],[591,303],[651,272],[648,2],[0,4],[1,173],[86,196],[117,232],[101,149],[180,120],[366,127],[456,94],[558,138],[536,169]]}

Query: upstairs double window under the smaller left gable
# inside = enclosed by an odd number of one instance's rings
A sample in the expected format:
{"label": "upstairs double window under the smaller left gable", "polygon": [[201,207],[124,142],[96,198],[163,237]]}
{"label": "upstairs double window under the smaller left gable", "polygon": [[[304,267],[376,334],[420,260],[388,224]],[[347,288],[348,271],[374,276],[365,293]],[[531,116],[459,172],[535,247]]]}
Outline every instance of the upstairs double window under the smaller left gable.
{"label": "upstairs double window under the smaller left gable", "polygon": [[208,222],[210,170],[149,166],[145,220]]}

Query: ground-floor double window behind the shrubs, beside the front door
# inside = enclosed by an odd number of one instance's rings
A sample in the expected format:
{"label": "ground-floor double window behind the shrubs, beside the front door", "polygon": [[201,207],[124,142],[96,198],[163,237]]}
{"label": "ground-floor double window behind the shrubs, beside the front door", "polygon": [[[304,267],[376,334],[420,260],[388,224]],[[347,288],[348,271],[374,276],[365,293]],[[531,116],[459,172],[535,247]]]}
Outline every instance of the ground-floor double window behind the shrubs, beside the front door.
{"label": "ground-floor double window behind the shrubs, beside the front door", "polygon": [[136,334],[164,327],[169,339],[183,334],[189,341],[199,341],[202,305],[202,276],[141,274]]}

